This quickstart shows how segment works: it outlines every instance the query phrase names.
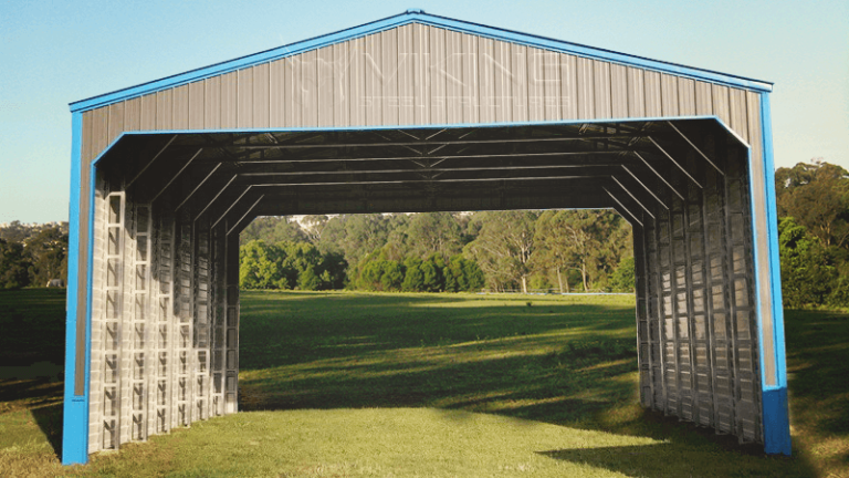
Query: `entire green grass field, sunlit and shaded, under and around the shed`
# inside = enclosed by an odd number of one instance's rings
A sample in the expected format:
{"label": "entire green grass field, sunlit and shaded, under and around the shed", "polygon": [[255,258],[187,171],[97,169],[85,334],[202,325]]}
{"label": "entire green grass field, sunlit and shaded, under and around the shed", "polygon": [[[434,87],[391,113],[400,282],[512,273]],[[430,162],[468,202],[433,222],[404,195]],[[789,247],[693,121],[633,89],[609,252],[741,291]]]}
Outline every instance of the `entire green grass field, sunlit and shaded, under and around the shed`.
{"label": "entire green grass field, sunlit and shaded, under and around the shed", "polygon": [[637,404],[632,298],[244,292],[247,413],[63,468],[63,310],[0,292],[2,477],[849,476],[847,314],[787,312],[782,458]]}

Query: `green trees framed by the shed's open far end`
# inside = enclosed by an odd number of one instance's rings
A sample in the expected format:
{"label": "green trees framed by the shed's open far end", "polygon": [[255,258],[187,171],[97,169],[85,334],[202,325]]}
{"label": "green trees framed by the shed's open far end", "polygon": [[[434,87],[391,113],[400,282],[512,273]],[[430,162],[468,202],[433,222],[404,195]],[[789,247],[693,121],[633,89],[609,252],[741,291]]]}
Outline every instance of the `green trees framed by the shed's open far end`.
{"label": "green trees framed by the shed's open far end", "polygon": [[[307,277],[324,273],[319,264],[333,258],[329,262],[345,264],[335,284],[347,289],[633,291],[631,228],[609,210],[307,216],[301,224],[266,217],[254,220],[241,241],[242,278],[261,276],[273,262],[256,261],[247,251],[302,243],[315,251],[313,271],[304,269]],[[277,261],[279,277],[286,276],[285,263]],[[328,280],[287,277],[262,284],[242,280],[241,287],[336,288]]]}

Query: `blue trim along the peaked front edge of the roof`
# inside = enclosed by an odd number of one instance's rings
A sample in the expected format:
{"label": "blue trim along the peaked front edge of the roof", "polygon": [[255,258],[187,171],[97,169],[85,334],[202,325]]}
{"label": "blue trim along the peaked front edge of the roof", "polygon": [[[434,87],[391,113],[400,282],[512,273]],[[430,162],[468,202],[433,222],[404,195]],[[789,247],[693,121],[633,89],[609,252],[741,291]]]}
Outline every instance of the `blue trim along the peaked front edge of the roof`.
{"label": "blue trim along the peaked front edge of the roof", "polygon": [[773,84],[765,81],[753,80],[753,79],[736,76],[727,73],[720,73],[711,70],[698,69],[693,66],[685,66],[685,65],[663,62],[659,60],[651,60],[643,56],[637,56],[637,55],[619,53],[610,50],[597,49],[597,48],[587,46],[578,43],[570,43],[563,40],[555,40],[546,37],[539,37],[539,35],[530,34],[530,33],[522,33],[522,32],[495,28],[495,27],[488,27],[480,23],[468,22],[463,20],[455,20],[448,17],[429,14],[429,13],[424,13],[422,10],[419,10],[419,9],[410,9],[403,13],[399,13],[392,17],[387,17],[385,19],[376,20],[358,27],[339,30],[337,32],[324,34],[321,37],[314,37],[308,40],[290,43],[284,46],[265,50],[259,53],[237,58],[237,59],[229,60],[221,63],[216,63],[209,66],[191,70],[185,73],[166,76],[161,80],[156,80],[156,81],[143,83],[136,86],[117,90],[112,93],[93,96],[87,100],[81,100],[70,104],[71,111],[78,112],[78,111],[96,108],[99,106],[128,100],[132,97],[142,96],[144,94],[153,93],[156,91],[167,90],[170,87],[180,86],[187,83],[203,80],[210,76],[217,76],[217,75],[235,71],[235,70],[241,70],[243,67],[252,66],[254,64],[280,60],[282,58],[291,56],[291,55],[301,53],[303,51],[315,50],[329,44],[339,43],[343,41],[364,37],[371,33],[377,33],[382,30],[401,27],[408,23],[422,23],[422,24],[444,28],[453,31],[471,33],[471,34],[481,35],[481,37],[488,37],[494,40],[521,43],[530,46],[537,46],[546,50],[554,50],[563,53],[575,54],[578,56],[605,60],[605,61],[619,63],[623,65],[638,66],[638,67],[643,67],[648,70],[654,70],[654,71],[664,72],[664,73],[686,76],[694,80],[724,84],[727,86],[743,87],[743,89],[754,90],[758,92],[771,92],[773,90]]}

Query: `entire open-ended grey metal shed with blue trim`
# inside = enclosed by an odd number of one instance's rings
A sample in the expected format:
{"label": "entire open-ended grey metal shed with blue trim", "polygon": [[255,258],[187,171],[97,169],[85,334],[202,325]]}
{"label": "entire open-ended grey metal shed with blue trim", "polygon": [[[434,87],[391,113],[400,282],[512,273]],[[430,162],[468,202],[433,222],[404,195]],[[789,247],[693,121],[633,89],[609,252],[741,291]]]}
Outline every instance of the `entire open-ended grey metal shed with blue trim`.
{"label": "entire open-ended grey metal shed with blue trim", "polygon": [[768,91],[411,11],[72,104],[63,461],[237,411],[258,216],[588,207],[642,405],[789,453]]}

